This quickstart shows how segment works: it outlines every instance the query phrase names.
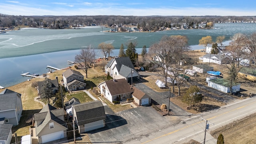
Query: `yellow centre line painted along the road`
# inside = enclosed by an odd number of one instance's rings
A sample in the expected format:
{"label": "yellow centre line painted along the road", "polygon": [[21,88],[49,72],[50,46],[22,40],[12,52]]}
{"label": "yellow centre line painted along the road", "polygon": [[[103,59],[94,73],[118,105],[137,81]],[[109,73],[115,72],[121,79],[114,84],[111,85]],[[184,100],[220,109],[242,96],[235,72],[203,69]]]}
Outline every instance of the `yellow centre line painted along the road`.
{"label": "yellow centre line painted along the road", "polygon": [[[246,104],[246,105],[241,106],[241,107],[239,107],[239,108],[236,108],[236,109],[234,109],[234,110],[230,110],[230,111],[228,111],[228,112],[224,112],[224,113],[219,114],[219,115],[217,115],[217,116],[214,116],[214,117],[212,117],[212,118],[208,118],[208,120],[211,120],[211,119],[216,118],[216,117],[218,117],[218,116],[222,116],[223,114],[227,114],[227,113],[229,113],[229,112],[238,110],[238,109],[240,109],[240,108],[244,108],[244,107],[249,106],[249,105],[254,104],[254,103],[256,103],[256,102],[252,102],[252,103],[250,103],[250,104]],[[201,121],[201,122],[202,122],[202,121]],[[180,129],[178,129],[178,130],[174,130],[174,131],[172,131],[172,132],[169,132],[168,134],[164,134],[164,135],[162,135],[162,136],[158,136],[158,137],[156,137],[156,138],[153,138],[152,140],[148,140],[148,141],[143,142],[143,143],[141,143],[141,144],[146,144],[146,143],[148,143],[148,142],[150,142],[150,141],[153,141],[153,140],[156,140],[156,139],[158,139],[158,138],[162,138],[162,137],[164,137],[164,136],[168,136],[168,135],[170,135],[170,134],[173,134],[173,133],[175,133],[175,132],[178,132],[178,131],[180,131],[180,130],[183,130],[183,129],[185,129],[185,128],[188,128],[188,127],[190,127],[190,126],[194,126],[195,124],[199,124],[199,123],[201,123],[201,122],[197,122],[197,123],[191,124],[191,125],[189,125],[189,126],[185,126],[185,127],[183,127],[183,128],[180,128]]]}

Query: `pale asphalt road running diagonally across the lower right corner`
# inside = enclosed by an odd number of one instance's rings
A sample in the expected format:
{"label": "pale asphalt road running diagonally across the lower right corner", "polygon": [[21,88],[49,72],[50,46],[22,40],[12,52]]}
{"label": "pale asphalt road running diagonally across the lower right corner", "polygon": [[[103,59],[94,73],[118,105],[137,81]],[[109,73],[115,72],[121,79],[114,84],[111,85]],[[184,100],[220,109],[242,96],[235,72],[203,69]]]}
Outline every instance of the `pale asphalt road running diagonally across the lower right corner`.
{"label": "pale asphalt road running diagonally across the lower right corner", "polygon": [[[175,126],[170,126],[164,130],[150,133],[148,136],[141,136],[140,140],[131,140],[123,143],[127,144],[182,144],[190,139],[198,142],[204,141],[204,128],[206,122],[210,121],[210,129],[206,132],[206,144],[216,144],[216,139],[210,135],[210,130],[214,130],[234,120],[241,119],[256,112],[256,98],[245,100],[235,100],[227,106],[203,113],[201,116],[194,116],[180,122]],[[202,117],[202,118],[201,118]],[[213,125],[214,124],[214,125]]]}

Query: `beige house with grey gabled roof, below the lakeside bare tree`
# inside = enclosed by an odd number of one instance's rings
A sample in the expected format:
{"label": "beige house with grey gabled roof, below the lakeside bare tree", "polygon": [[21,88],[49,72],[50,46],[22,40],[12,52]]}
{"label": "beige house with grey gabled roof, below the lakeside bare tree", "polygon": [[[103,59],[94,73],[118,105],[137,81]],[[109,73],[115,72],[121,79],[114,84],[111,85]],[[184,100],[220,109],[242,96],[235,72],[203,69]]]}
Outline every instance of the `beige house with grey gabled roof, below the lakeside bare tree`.
{"label": "beige house with grey gabled roof, below the lakeside bare tree", "polygon": [[62,76],[67,91],[83,90],[86,88],[84,76],[80,72],[68,69],[62,73]]}

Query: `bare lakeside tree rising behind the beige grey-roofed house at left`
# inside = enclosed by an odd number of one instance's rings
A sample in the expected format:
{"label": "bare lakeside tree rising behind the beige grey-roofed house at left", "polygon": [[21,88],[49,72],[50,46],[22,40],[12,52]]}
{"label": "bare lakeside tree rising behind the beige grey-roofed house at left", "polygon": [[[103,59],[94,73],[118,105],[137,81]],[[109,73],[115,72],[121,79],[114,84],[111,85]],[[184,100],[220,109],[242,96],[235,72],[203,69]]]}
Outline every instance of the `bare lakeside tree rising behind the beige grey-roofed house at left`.
{"label": "bare lakeside tree rising behind the beige grey-roofed house at left", "polygon": [[80,50],[80,53],[75,56],[75,62],[78,64],[78,67],[83,70],[83,72],[86,73],[86,78],[88,74],[88,68],[90,68],[90,65],[95,60],[95,52],[94,48],[89,45],[88,47],[83,47]]}

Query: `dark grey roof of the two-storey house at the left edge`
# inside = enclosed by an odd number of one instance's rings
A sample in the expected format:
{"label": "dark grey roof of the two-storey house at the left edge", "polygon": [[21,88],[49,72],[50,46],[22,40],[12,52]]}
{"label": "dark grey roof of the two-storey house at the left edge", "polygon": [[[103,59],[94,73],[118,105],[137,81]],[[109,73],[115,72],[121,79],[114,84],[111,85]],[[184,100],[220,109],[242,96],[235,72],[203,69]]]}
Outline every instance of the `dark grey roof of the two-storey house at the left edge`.
{"label": "dark grey roof of the two-storey house at the left edge", "polygon": [[8,89],[2,93],[0,94],[0,111],[16,109],[17,100],[21,94]]}

